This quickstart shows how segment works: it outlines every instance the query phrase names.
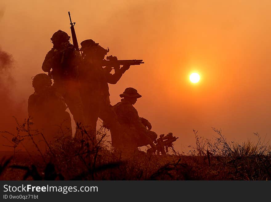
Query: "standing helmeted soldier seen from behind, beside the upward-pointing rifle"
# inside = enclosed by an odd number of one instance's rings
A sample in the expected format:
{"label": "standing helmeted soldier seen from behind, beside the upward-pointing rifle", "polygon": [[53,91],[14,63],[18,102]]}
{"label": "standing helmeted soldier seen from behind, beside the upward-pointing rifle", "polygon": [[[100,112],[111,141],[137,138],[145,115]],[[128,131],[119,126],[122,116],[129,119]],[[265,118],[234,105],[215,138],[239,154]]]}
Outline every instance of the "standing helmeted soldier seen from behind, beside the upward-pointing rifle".
{"label": "standing helmeted soldier seen from behind, beside the upward-pointing rifle", "polygon": [[64,97],[75,123],[85,125],[78,81],[82,57],[71,45],[70,38],[61,30],[53,34],[51,38],[53,48],[47,53],[42,63],[42,70],[52,75],[54,87]]}

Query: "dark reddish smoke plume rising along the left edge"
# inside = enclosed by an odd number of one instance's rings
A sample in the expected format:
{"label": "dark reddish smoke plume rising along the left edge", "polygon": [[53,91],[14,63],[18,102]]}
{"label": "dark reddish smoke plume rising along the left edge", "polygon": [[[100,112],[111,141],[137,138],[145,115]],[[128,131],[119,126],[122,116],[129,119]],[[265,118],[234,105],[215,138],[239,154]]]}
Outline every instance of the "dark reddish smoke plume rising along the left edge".
{"label": "dark reddish smoke plume rising along the left edge", "polygon": [[[14,68],[14,59],[11,54],[0,48],[0,131],[14,132],[16,122],[22,121],[26,117],[26,102],[22,98],[14,95],[13,89],[16,82],[11,73]],[[2,136],[0,137],[2,140]],[[1,142],[4,143],[5,140]],[[2,144],[0,145],[2,147]]]}

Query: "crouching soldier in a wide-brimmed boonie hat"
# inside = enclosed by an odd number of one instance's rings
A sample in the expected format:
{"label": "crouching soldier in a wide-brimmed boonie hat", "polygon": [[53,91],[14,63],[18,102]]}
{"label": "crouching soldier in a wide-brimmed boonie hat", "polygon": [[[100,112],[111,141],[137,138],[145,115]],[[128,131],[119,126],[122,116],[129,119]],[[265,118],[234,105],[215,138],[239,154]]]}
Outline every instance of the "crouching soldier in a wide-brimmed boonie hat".
{"label": "crouching soldier in a wide-brimmed boonie hat", "polygon": [[151,145],[152,152],[156,152],[157,148],[153,141],[156,140],[157,134],[151,131],[150,122],[139,117],[133,106],[141,95],[134,88],[126,88],[119,96],[123,99],[114,105],[113,109],[118,116],[121,127],[129,135],[129,137],[122,137],[123,144],[132,148]]}

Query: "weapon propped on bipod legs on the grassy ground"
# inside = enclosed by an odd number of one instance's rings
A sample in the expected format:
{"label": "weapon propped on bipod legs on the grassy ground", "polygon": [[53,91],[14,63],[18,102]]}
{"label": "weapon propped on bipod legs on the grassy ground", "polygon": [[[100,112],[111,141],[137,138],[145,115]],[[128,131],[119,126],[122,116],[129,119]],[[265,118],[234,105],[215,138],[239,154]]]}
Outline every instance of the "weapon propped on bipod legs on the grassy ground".
{"label": "weapon propped on bipod legs on the grassy ground", "polygon": [[160,137],[154,141],[156,143],[157,147],[157,154],[166,154],[168,152],[168,148],[171,147],[173,148],[173,142],[175,142],[179,137],[173,137],[172,133],[168,133],[166,136],[165,134],[161,134]]}

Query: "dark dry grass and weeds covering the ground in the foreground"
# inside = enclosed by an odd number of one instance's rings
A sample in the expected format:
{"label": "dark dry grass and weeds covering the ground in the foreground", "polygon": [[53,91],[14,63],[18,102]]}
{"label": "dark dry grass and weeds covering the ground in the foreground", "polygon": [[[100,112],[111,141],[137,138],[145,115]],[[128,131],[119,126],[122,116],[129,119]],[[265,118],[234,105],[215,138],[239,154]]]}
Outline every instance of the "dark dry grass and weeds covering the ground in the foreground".
{"label": "dark dry grass and weeds covering the ground in the foreground", "polygon": [[[24,124],[18,124],[18,134],[8,134],[12,138],[30,138],[38,152],[36,155],[24,153],[24,156],[18,152],[16,158],[2,159],[1,180],[271,179],[271,147],[261,142],[257,133],[254,133],[258,138],[256,144],[249,141],[238,144],[229,142],[221,130],[215,128],[217,135],[212,140],[198,136],[194,130],[196,144],[186,154],[150,155],[140,151],[121,154],[106,141],[104,128],[97,131],[97,140],[93,140],[79,126],[78,138],[64,135],[56,138],[54,144],[47,143],[48,149],[43,153],[33,137],[40,135],[44,141],[46,139],[30,127],[30,121],[26,120]],[[16,147],[13,147],[14,155]]]}

